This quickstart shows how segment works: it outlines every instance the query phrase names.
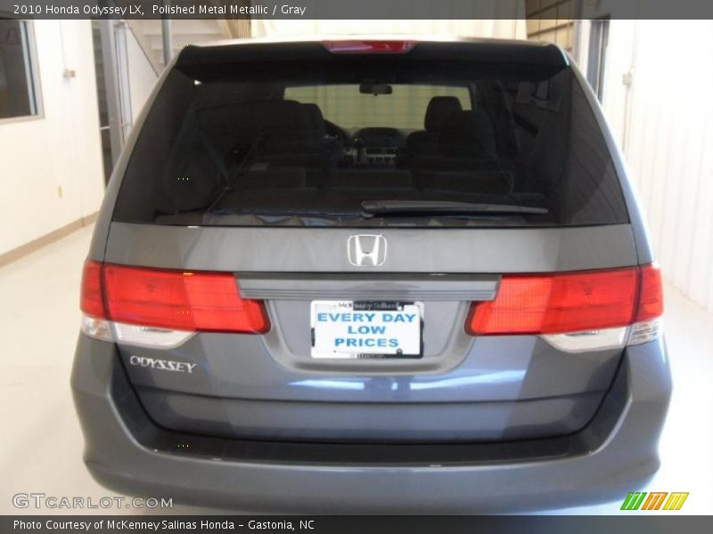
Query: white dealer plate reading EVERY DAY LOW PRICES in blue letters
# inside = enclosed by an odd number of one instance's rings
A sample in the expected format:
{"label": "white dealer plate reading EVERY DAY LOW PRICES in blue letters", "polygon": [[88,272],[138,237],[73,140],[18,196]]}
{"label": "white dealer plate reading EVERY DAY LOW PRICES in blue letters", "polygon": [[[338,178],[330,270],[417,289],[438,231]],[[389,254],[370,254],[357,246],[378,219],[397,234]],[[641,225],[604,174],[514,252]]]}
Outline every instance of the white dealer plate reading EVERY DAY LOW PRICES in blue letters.
{"label": "white dealer plate reading EVERY DAY LOW PRICES in blue letters", "polygon": [[423,303],[312,301],[312,358],[421,358]]}

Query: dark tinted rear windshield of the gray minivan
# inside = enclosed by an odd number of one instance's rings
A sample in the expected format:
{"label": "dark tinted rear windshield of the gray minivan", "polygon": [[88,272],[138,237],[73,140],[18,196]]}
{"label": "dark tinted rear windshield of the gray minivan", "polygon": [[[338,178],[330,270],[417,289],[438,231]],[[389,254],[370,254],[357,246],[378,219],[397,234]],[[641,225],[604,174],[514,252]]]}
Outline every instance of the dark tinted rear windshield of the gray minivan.
{"label": "dark tinted rear windshield of the gray minivan", "polygon": [[362,56],[174,69],[114,220],[413,227],[628,217],[569,67]]}

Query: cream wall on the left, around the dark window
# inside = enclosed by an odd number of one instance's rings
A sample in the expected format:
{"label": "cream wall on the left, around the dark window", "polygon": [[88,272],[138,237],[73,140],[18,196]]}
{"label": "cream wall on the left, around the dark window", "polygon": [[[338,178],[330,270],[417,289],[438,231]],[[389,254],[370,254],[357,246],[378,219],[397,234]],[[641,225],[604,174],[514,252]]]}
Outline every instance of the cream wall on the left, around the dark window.
{"label": "cream wall on the left, around the dark window", "polygon": [[32,24],[44,117],[0,123],[0,255],[94,214],[103,195],[91,23]]}

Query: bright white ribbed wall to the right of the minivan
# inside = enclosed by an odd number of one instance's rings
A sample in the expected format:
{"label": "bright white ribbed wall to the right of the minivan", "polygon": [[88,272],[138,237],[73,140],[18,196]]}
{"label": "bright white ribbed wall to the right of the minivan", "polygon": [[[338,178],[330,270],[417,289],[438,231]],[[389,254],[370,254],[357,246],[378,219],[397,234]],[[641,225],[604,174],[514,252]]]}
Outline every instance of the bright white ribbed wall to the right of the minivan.
{"label": "bright white ribbed wall to the right of the minivan", "polygon": [[611,20],[608,53],[602,107],[662,271],[713,310],[713,20]]}

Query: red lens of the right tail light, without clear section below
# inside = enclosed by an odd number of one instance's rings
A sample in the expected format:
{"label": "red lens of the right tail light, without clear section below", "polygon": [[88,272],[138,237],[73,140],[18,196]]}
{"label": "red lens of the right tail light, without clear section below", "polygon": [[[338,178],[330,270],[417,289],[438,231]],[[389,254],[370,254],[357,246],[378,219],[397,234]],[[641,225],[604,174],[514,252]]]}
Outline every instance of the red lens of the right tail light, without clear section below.
{"label": "red lens of the right tail light, without clear section below", "polygon": [[[496,299],[474,303],[473,335],[558,334],[630,325],[637,316],[638,268],[546,275],[505,275]],[[649,284],[654,284],[653,275]],[[643,292],[642,292],[643,293]],[[654,311],[655,291],[648,290]]]}

